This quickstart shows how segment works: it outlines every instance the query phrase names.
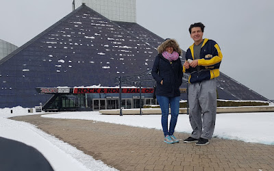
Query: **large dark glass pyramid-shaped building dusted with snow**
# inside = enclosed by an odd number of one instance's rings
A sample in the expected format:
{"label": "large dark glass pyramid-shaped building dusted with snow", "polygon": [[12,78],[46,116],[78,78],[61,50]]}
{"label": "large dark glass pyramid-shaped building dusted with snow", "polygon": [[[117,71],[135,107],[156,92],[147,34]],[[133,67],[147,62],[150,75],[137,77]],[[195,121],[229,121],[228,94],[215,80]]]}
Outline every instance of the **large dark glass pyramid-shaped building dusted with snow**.
{"label": "large dark glass pyramid-shaped building dusted with snow", "polygon": [[[111,88],[118,86],[116,77],[143,73],[153,80],[149,73],[163,41],[137,23],[110,20],[83,4],[0,60],[0,107],[34,107],[49,102],[59,108],[117,107],[118,94],[71,91],[75,87]],[[223,73],[217,78],[217,86],[220,99],[269,101]],[[61,88],[62,93],[41,94],[40,88]],[[186,81],[182,89],[186,90]],[[142,104],[156,103],[152,93],[141,96]],[[137,107],[138,97],[138,92],[123,94],[125,107]],[[186,99],[186,93],[182,92],[181,98]]]}

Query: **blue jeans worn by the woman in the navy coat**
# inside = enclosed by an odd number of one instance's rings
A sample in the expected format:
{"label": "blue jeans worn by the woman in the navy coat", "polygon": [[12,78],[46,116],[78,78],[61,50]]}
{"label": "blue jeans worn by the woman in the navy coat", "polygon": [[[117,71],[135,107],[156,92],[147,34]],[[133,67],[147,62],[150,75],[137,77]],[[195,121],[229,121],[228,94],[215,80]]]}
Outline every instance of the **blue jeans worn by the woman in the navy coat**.
{"label": "blue jeans worn by the woman in the navy coat", "polygon": [[[164,136],[173,135],[179,114],[180,97],[156,96],[156,98],[162,111],[162,129],[164,132]],[[169,124],[168,130],[169,105],[171,105],[171,122]]]}

